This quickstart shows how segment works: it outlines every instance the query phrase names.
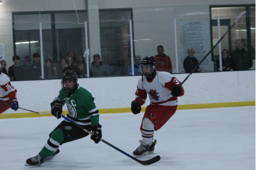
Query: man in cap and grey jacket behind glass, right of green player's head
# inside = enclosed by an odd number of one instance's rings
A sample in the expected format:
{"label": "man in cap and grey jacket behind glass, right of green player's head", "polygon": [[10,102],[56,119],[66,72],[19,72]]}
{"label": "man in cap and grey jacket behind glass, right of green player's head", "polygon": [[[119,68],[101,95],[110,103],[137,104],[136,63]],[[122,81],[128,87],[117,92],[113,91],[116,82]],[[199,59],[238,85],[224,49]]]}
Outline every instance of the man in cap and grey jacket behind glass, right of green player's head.
{"label": "man in cap and grey jacket behind glass, right of green player's head", "polygon": [[99,54],[93,55],[93,62],[90,67],[90,77],[105,77],[110,76],[109,68],[101,62]]}

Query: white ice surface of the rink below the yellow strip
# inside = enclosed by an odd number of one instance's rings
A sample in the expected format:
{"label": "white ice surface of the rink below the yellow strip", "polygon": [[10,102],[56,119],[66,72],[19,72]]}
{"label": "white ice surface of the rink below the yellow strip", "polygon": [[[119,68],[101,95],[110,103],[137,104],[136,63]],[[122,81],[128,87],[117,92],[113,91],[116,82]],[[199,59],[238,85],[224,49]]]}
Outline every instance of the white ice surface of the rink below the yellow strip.
{"label": "white ice surface of the rink below the yellow strip", "polygon": [[[1,115],[0,115],[1,116]],[[138,147],[143,113],[102,114],[102,138],[133,155]],[[25,167],[49,133],[62,121],[55,117],[0,119],[0,169],[255,169],[255,106],[178,110],[158,131],[154,154],[161,160],[141,165],[89,136],[59,147],[54,159],[39,167]]]}

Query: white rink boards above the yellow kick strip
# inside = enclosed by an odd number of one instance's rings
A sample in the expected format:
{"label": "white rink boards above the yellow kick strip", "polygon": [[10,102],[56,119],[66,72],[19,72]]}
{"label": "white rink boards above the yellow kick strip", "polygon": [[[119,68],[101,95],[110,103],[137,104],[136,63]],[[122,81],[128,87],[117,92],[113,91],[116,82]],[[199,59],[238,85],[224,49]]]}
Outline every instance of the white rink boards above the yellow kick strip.
{"label": "white rink boards above the yellow kick strip", "polygon": [[[181,82],[188,74],[173,74]],[[129,108],[135,99],[140,76],[78,79],[89,90],[98,109]],[[19,106],[33,111],[50,111],[50,102],[58,96],[60,80],[16,81]],[[255,71],[194,73],[183,84],[185,95],[179,105],[255,101]],[[149,105],[149,100],[143,107]],[[64,107],[66,109],[66,106]],[[18,109],[16,112],[28,112]],[[14,113],[8,109],[5,114]]]}

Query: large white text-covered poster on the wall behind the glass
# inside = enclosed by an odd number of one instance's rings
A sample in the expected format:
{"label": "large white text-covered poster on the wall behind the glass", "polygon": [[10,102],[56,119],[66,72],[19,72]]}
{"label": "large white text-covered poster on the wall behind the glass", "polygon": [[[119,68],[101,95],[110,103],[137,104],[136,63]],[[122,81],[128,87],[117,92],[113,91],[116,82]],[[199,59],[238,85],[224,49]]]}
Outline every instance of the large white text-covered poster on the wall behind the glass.
{"label": "large white text-covered poster on the wall behind the glass", "polygon": [[[200,62],[210,51],[209,21],[180,22],[180,43],[182,61],[188,56],[187,49],[193,48],[194,57]],[[209,54],[199,67],[202,71],[209,71],[211,70],[210,63]]]}

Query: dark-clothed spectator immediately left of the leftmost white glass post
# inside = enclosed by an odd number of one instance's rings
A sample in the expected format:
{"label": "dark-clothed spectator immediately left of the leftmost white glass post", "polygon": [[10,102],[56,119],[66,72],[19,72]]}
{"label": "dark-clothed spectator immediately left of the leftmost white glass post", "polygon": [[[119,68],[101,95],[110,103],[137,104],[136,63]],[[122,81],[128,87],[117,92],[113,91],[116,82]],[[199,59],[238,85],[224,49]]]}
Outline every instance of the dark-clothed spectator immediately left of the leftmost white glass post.
{"label": "dark-clothed spectator immediately left of the leftmost white glass post", "polygon": [[32,64],[29,67],[29,80],[40,80],[42,79],[41,73],[41,62],[40,62],[40,54],[34,53]]}

